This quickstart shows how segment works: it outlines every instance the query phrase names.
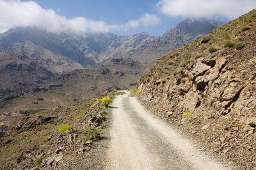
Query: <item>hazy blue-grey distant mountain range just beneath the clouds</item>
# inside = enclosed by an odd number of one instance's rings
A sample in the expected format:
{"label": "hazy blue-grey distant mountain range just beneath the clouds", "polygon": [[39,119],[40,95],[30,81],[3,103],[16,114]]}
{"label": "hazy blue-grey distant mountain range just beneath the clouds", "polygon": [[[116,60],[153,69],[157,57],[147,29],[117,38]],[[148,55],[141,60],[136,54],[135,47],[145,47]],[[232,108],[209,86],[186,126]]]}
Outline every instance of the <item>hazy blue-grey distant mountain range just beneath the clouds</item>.
{"label": "hazy blue-grey distant mountain range just beneath the clouds", "polygon": [[[0,50],[1,55],[21,55],[19,62],[36,60],[41,66],[48,65],[45,68],[52,73],[65,73],[70,69],[81,69],[81,66],[93,66],[113,57],[129,56],[143,60],[141,52],[158,49],[170,51],[214,28],[216,25],[211,21],[188,19],[166,32],[163,37],[155,38],[146,32],[131,36],[116,36],[111,33],[56,34],[31,27],[17,27],[0,35]],[[153,58],[156,59],[159,55]],[[67,69],[54,69],[61,66]]]}

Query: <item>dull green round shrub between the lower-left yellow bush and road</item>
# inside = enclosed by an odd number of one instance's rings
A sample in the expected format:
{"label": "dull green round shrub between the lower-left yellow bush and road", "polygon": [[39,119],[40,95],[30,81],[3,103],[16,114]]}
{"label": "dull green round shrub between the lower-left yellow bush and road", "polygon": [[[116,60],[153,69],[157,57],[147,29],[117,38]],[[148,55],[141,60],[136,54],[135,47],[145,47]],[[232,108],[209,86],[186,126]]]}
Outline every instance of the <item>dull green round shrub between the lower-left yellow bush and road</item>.
{"label": "dull green round shrub between the lower-left yellow bush and road", "polygon": [[100,129],[97,129],[94,125],[88,126],[83,131],[83,137],[86,141],[98,141],[100,139]]}

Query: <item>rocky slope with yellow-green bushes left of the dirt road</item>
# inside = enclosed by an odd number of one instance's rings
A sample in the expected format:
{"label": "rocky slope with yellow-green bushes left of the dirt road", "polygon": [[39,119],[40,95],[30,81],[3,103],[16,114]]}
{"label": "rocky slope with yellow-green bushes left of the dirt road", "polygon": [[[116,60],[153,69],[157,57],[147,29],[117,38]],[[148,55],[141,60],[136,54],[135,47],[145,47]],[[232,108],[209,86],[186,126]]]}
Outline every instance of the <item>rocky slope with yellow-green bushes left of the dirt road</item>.
{"label": "rocky slope with yellow-green bushes left of the dirt road", "polygon": [[94,98],[86,103],[13,117],[12,127],[0,136],[0,169],[104,168],[108,112]]}

